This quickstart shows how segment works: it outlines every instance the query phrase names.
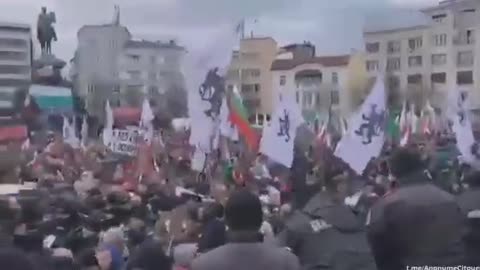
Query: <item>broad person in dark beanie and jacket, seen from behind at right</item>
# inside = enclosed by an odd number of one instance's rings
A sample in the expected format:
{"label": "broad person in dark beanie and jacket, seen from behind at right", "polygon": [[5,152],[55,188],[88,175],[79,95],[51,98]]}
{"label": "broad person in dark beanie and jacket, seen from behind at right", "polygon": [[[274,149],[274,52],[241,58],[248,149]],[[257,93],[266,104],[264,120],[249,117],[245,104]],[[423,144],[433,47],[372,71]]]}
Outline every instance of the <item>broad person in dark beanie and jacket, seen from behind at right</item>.
{"label": "broad person in dark beanie and jacket, seen from behind at right", "polygon": [[395,190],[380,198],[366,218],[378,269],[409,265],[463,265],[464,217],[453,195],[429,179],[420,153],[400,148],[389,160]]}

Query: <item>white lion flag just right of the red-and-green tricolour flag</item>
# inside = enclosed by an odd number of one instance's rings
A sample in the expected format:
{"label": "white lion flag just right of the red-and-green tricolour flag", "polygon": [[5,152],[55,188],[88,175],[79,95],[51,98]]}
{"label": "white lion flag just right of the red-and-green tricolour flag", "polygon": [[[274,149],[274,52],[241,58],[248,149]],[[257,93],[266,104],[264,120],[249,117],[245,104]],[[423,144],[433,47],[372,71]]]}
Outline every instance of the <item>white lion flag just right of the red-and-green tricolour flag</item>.
{"label": "white lion flag just right of the red-and-green tricolour flag", "polygon": [[297,128],[304,123],[302,112],[290,95],[282,94],[270,125],[265,125],[260,152],[288,168],[293,162]]}

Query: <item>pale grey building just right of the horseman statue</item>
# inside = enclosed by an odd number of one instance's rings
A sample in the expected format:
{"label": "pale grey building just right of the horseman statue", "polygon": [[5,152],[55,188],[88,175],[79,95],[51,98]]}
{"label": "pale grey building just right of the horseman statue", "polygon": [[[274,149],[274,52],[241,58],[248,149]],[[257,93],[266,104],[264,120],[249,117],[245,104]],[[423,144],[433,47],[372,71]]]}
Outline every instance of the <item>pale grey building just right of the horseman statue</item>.
{"label": "pale grey building just right of the horseman statue", "polygon": [[119,59],[131,34],[126,27],[112,23],[83,26],[77,37],[74,89],[85,98],[90,114],[102,116],[103,102],[120,89]]}

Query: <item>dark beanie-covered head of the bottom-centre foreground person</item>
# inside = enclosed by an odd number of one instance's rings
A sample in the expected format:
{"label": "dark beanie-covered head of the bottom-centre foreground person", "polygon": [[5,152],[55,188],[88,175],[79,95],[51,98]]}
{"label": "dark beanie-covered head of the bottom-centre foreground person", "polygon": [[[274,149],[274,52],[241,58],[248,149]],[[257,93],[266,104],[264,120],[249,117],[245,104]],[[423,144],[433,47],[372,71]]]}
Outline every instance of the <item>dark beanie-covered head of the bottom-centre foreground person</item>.
{"label": "dark beanie-covered head of the bottom-centre foreground person", "polygon": [[225,206],[225,219],[231,231],[257,232],[263,221],[260,199],[246,189],[233,192]]}

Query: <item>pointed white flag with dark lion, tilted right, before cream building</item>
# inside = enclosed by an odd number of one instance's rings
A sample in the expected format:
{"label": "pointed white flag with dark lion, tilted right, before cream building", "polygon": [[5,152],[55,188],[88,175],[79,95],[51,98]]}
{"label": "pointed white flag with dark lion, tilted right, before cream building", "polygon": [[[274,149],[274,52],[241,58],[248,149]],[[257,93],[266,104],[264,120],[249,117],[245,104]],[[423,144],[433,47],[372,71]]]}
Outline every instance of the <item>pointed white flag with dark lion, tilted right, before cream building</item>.
{"label": "pointed white flag with dark lion, tilted right, before cream building", "polygon": [[385,85],[377,76],[372,92],[348,123],[348,136],[342,137],[335,156],[361,174],[371,158],[377,157],[385,141]]}

